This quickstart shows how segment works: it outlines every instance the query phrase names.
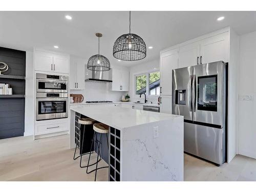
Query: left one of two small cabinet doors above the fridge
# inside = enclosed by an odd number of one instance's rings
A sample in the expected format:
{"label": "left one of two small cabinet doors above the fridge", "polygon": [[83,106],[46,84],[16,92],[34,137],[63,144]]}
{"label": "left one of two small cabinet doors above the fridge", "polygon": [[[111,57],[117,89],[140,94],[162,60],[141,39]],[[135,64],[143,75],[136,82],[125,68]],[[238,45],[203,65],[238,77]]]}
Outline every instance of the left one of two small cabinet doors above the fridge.
{"label": "left one of two small cabinet doors above the fridge", "polygon": [[198,65],[200,60],[200,45],[198,42],[179,48],[179,68]]}

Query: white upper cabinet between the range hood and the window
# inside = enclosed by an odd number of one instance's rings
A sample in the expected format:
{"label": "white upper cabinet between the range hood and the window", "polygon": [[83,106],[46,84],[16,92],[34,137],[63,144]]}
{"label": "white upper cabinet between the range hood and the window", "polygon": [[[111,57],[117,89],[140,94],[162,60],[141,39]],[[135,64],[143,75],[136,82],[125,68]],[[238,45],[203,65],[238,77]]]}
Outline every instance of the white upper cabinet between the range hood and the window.
{"label": "white upper cabinet between the range hood and the window", "polygon": [[121,69],[111,69],[112,91],[129,91],[129,71]]}

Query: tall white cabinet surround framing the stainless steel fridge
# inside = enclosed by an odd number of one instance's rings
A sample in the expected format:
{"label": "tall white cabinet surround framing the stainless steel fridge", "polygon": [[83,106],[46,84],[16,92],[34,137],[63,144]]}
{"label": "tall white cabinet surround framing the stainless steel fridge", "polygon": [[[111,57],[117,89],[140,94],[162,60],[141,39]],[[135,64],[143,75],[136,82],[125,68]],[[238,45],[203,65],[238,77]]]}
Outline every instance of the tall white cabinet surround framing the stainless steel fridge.
{"label": "tall white cabinet surround framing the stainless steel fridge", "polygon": [[160,52],[160,112],[172,113],[172,70],[223,60],[228,62],[228,162],[236,150],[238,102],[238,35],[229,27]]}

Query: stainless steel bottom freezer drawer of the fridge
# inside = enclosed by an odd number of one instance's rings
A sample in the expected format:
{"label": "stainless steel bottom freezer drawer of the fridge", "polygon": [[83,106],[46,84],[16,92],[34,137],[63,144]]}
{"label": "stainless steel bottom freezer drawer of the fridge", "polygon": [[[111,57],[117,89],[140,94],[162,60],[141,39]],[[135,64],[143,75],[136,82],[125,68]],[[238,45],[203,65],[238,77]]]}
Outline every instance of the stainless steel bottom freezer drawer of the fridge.
{"label": "stainless steel bottom freezer drawer of the fridge", "polygon": [[223,129],[184,122],[184,151],[223,164]]}

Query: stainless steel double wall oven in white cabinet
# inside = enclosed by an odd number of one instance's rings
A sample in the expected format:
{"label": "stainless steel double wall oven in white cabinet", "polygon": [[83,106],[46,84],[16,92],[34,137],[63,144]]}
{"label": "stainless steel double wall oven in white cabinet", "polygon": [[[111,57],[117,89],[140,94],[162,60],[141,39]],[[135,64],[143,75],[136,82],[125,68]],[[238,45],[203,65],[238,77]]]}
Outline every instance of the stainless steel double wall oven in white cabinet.
{"label": "stainless steel double wall oven in white cabinet", "polygon": [[68,76],[36,74],[36,120],[68,117]]}

